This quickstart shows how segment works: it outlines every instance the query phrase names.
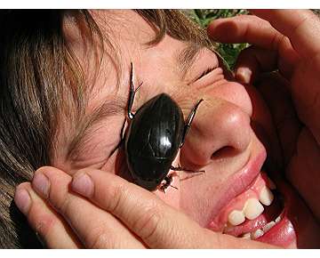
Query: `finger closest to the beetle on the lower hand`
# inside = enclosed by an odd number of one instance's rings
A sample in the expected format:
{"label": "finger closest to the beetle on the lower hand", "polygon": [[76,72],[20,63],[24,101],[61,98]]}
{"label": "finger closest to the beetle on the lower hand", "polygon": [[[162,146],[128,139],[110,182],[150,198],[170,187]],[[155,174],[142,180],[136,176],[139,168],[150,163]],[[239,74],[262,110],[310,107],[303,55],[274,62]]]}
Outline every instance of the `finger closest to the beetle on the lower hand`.
{"label": "finger closest to the beetle on the lower hand", "polygon": [[205,230],[155,194],[112,173],[80,170],[74,175],[71,188],[115,214],[151,248],[267,247]]}

